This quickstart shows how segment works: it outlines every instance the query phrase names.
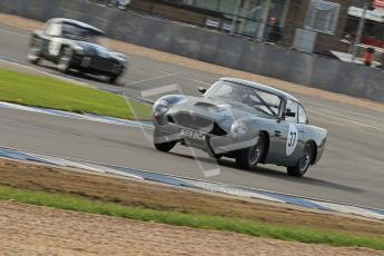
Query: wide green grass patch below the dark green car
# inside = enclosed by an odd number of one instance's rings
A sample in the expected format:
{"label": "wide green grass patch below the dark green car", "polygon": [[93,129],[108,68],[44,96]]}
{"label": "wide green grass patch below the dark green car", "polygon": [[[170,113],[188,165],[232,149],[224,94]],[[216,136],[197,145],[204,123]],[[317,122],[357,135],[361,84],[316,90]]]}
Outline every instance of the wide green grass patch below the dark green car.
{"label": "wide green grass patch below the dark green car", "polygon": [[0,100],[125,119],[150,119],[151,107],[49,76],[0,69]]}

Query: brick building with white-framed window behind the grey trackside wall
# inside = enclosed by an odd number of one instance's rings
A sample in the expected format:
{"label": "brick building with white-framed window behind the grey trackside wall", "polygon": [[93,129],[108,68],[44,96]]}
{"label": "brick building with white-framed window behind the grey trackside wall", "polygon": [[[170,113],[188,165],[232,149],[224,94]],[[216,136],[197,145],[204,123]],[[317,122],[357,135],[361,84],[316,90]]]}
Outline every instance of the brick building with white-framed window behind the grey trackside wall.
{"label": "brick building with white-framed window behind the grey trackside wall", "polygon": [[[362,10],[365,1],[373,4],[373,0],[131,0],[128,8],[260,41],[274,17],[283,32],[278,45],[322,53],[348,50],[343,39],[357,30],[358,14],[353,10]],[[383,27],[368,19],[364,35],[372,33],[384,40]]]}

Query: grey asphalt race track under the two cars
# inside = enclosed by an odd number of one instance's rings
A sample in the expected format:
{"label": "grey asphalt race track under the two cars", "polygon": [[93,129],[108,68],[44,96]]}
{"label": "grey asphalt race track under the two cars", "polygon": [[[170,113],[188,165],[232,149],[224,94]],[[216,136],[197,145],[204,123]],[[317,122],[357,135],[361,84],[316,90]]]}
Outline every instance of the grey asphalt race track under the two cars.
{"label": "grey asphalt race track under the two cars", "polygon": [[[29,31],[0,26],[0,56],[27,63]],[[129,53],[129,52],[127,52]],[[219,76],[193,68],[130,55],[130,70],[120,86],[87,77],[97,87],[140,96],[141,90],[178,85],[187,95]],[[49,65],[43,69],[52,70]],[[73,73],[73,76],[79,76]],[[273,85],[272,85],[273,86]],[[220,175],[205,177],[200,169],[216,165],[196,161],[188,148],[170,154],[154,149],[144,132],[124,126],[0,109],[0,145],[86,160],[120,165],[193,178],[255,187],[338,203],[384,208],[384,114],[332,100],[295,95],[306,107],[312,124],[328,130],[323,159],[304,178],[287,177],[285,168],[260,166],[256,171],[238,170],[230,159],[219,161]]]}

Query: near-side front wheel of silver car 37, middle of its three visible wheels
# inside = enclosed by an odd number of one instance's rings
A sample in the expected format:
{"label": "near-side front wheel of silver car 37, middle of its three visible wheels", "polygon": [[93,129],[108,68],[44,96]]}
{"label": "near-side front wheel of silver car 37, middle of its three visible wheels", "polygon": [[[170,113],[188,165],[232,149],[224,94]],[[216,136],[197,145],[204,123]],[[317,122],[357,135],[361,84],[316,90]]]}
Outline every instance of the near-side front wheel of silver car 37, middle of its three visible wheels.
{"label": "near-side front wheel of silver car 37, middle of its three visible wheels", "polygon": [[265,150],[265,136],[259,134],[257,136],[257,144],[253,147],[243,149],[236,157],[236,166],[242,169],[255,169],[257,164],[262,160]]}

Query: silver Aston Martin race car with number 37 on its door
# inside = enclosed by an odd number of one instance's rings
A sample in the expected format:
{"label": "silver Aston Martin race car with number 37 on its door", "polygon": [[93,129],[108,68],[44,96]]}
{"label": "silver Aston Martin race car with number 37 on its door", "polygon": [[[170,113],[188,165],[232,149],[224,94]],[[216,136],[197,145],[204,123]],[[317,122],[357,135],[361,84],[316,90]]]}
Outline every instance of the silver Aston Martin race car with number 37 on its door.
{"label": "silver Aston Martin race car with number 37 on its door", "polygon": [[154,105],[154,144],[169,151],[177,142],[236,159],[239,168],[286,166],[303,176],[324,152],[327,131],[309,125],[293,96],[260,83],[221,78],[203,97],[169,95]]}

